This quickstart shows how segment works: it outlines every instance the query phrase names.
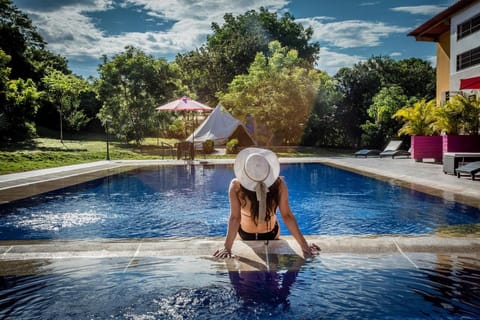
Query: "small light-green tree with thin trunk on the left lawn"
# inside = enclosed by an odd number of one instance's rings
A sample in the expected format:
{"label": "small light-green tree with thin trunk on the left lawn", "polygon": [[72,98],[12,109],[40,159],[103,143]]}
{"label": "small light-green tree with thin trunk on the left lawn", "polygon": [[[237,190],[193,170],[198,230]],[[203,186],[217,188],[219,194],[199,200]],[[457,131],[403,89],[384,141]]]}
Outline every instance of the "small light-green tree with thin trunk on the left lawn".
{"label": "small light-green tree with thin trunk on the left lawn", "polygon": [[69,129],[78,131],[90,119],[80,107],[80,95],[89,89],[85,80],[58,70],[50,70],[42,79],[47,88],[46,95],[57,106],[60,116],[60,141],[63,143],[63,121]]}

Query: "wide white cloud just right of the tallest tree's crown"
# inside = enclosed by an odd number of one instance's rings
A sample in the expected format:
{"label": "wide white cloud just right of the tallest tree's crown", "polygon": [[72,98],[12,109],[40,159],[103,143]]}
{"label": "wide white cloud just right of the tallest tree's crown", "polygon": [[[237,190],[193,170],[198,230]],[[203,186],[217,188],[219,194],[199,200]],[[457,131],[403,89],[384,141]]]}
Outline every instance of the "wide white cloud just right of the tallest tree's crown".
{"label": "wide white cloud just right of the tallest tree's crown", "polygon": [[331,18],[327,17],[314,17],[297,21],[304,26],[312,27],[314,30],[312,40],[326,42],[339,48],[376,47],[382,43],[383,38],[409,30],[383,22],[363,20],[328,22],[330,20]]}

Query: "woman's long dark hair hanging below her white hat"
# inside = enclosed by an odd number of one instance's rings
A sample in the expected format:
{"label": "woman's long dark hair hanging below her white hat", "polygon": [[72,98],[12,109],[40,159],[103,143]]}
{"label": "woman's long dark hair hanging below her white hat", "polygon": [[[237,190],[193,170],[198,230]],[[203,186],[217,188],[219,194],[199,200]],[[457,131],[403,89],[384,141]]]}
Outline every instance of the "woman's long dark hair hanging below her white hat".
{"label": "woman's long dark hair hanging below her white hat", "polygon": [[[275,215],[277,210],[279,199],[280,199],[280,177],[275,180],[275,182],[268,188],[267,192],[267,214],[265,216],[265,222],[270,222],[270,217]],[[237,192],[238,198],[240,199],[240,204],[242,208],[247,205],[247,199],[250,202],[250,214],[252,215],[253,222],[255,225],[258,225],[258,207],[259,202],[257,200],[257,193],[255,191],[250,191],[244,188],[240,184],[240,189]]]}

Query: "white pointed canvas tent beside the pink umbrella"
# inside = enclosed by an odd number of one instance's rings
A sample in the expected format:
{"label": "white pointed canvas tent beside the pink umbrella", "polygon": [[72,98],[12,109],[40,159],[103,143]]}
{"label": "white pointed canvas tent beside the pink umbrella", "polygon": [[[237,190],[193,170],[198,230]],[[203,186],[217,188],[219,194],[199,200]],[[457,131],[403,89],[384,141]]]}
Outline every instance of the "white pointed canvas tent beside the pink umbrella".
{"label": "white pointed canvas tent beside the pink umbrella", "polygon": [[239,144],[242,146],[256,144],[247,128],[219,104],[187,138],[187,141],[203,142],[213,140],[215,146],[222,146],[233,138],[238,139]]}

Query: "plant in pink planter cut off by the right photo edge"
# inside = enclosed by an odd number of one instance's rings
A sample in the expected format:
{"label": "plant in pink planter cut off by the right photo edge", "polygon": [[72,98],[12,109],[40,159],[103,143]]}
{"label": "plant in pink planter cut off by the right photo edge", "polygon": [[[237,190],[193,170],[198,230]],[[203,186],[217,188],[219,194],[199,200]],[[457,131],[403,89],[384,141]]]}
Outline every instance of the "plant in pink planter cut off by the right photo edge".
{"label": "plant in pink planter cut off by the right photo edge", "polygon": [[443,133],[445,152],[480,152],[480,97],[452,97],[436,112],[435,126]]}

